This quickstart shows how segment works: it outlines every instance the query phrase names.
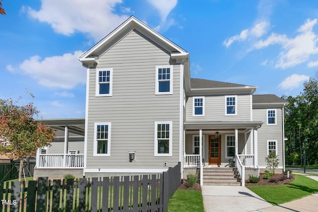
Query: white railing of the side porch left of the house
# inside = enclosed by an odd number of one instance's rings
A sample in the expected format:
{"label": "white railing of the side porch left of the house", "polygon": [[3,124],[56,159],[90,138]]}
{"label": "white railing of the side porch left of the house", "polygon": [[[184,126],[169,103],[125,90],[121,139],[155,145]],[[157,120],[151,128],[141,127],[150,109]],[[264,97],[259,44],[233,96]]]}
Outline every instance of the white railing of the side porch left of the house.
{"label": "white railing of the side porch left of the house", "polygon": [[40,154],[39,167],[37,168],[82,167],[84,167],[84,154]]}

